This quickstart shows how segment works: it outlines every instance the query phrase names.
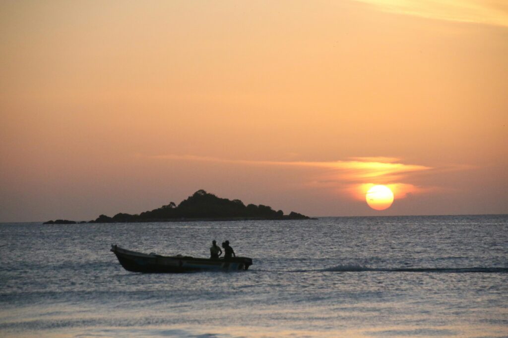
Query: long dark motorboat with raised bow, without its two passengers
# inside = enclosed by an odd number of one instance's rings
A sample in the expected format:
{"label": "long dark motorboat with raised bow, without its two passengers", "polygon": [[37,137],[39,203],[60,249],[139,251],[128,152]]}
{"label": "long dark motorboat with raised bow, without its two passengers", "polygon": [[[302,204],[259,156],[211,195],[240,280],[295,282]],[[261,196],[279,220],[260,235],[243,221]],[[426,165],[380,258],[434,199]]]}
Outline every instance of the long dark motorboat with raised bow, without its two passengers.
{"label": "long dark motorboat with raised bow, without its two passengers", "polygon": [[190,256],[162,256],[155,253],[141,253],[111,245],[121,266],[132,272],[143,273],[185,273],[196,271],[239,271],[248,270],[252,259],[248,257],[196,258]]}

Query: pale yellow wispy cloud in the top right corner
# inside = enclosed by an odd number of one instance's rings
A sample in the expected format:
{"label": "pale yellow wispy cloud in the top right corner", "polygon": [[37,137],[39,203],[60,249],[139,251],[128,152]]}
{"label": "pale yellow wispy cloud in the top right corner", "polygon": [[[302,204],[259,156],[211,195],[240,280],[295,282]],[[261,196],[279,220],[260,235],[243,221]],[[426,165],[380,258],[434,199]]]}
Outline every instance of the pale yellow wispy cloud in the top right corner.
{"label": "pale yellow wispy cloud in the top right corner", "polygon": [[504,0],[356,0],[382,11],[437,20],[508,27]]}

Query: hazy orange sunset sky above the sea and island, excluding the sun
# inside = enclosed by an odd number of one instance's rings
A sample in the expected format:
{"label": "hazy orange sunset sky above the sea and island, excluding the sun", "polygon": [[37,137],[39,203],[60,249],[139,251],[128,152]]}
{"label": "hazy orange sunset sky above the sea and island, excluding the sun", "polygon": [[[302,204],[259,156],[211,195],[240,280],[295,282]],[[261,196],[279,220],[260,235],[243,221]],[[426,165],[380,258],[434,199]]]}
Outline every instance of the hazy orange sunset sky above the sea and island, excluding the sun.
{"label": "hazy orange sunset sky above the sea and island, excluding the sun", "polygon": [[507,60],[504,0],[4,1],[0,221],[508,213]]}

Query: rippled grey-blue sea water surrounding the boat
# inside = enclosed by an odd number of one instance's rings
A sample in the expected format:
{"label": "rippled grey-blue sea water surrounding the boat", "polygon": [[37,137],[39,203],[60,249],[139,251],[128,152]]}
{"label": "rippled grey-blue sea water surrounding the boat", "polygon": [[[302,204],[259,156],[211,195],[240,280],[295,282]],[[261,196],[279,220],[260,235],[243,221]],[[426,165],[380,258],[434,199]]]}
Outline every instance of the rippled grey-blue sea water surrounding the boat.
{"label": "rippled grey-blue sea water surrounding the boat", "polygon": [[[245,272],[125,271],[111,244]],[[508,216],[0,224],[2,337],[508,336]]]}

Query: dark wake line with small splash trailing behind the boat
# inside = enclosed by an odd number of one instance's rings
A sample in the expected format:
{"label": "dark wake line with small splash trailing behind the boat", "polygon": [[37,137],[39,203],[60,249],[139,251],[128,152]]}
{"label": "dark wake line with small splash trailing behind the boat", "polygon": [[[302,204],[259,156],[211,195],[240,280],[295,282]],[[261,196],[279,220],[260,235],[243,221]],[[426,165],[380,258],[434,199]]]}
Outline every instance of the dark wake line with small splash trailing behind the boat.
{"label": "dark wake line with small splash trailing behind the boat", "polygon": [[490,267],[473,267],[473,268],[368,268],[360,265],[339,265],[323,270],[322,272],[422,272],[422,273],[508,273],[508,268],[490,268]]}

